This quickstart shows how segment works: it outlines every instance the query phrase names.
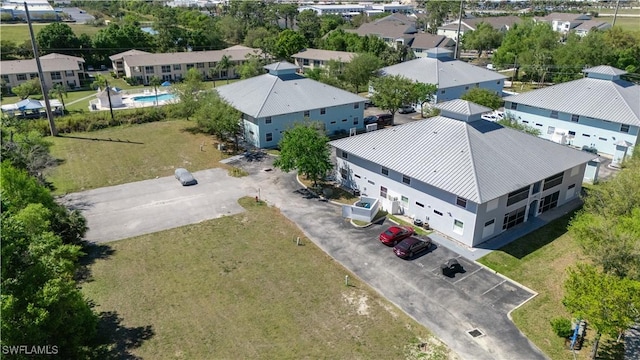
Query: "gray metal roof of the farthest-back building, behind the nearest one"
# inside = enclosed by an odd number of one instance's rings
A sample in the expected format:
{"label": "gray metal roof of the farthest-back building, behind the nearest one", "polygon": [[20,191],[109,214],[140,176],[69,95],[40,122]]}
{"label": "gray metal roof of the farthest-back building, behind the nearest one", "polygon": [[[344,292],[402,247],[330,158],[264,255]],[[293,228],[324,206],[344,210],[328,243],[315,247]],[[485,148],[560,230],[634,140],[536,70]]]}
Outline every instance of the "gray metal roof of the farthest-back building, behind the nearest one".
{"label": "gray metal roof of the farthest-back building, behind the nearest one", "polygon": [[382,68],[381,71],[386,75],[402,75],[413,81],[437,84],[440,89],[507,78],[495,71],[471,65],[464,61],[442,61],[429,57],[387,66]]}

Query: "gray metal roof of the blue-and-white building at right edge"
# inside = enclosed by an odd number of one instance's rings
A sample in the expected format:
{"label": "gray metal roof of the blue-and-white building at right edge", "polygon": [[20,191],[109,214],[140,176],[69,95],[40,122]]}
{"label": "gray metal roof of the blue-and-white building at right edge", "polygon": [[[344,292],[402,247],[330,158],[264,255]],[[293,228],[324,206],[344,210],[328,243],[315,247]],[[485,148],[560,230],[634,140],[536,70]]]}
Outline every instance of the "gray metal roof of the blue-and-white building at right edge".
{"label": "gray metal roof of the blue-and-white building at right edge", "polygon": [[640,86],[624,80],[583,78],[507,96],[505,101],[619,124],[640,126]]}

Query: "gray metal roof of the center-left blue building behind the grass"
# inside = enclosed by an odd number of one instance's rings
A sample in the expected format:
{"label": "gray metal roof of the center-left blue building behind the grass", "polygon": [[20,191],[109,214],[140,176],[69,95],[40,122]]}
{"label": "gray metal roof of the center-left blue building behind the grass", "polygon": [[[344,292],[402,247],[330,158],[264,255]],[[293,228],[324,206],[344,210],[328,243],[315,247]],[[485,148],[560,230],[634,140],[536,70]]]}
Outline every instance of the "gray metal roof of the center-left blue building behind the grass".
{"label": "gray metal roof of the center-left blue building behind the grass", "polygon": [[366,99],[297,74],[264,74],[218,87],[239,111],[261,118],[364,102]]}

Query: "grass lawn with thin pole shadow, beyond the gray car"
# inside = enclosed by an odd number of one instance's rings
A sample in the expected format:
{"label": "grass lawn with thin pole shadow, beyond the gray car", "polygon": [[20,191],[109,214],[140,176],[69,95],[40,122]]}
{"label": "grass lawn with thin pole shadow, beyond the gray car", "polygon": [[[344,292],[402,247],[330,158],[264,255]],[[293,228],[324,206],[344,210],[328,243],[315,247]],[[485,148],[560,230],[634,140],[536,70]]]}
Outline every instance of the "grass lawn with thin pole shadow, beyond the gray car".
{"label": "grass lawn with thin pole shadow, beyond the gray car", "polygon": [[48,178],[55,193],[64,194],[169,176],[176,167],[222,167],[223,154],[214,147],[214,139],[192,134],[193,126],[174,120],[48,138],[54,144],[52,155],[63,161]]}

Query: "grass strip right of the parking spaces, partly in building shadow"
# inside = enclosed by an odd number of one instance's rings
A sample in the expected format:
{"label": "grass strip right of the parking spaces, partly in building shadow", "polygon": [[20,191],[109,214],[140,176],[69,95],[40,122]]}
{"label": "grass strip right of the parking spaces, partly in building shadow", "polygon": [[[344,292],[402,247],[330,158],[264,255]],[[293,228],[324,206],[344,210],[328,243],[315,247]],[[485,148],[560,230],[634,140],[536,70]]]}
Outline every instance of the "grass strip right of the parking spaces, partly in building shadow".
{"label": "grass strip right of the parking spaces, partly in building shadow", "polygon": [[[571,318],[562,305],[564,294],[565,269],[578,261],[586,262],[582,250],[566,232],[573,213],[567,214],[549,225],[498,251],[481,258],[480,263],[537,291],[533,300],[512,313],[518,328],[545,354],[552,359],[570,359],[571,352],[564,347],[564,339],[559,338],[551,329],[550,321],[555,317]],[[589,328],[588,328],[589,329]],[[593,331],[577,352],[577,359],[588,359],[591,351]],[[612,345],[603,336],[601,341],[601,359],[603,346]]]}

